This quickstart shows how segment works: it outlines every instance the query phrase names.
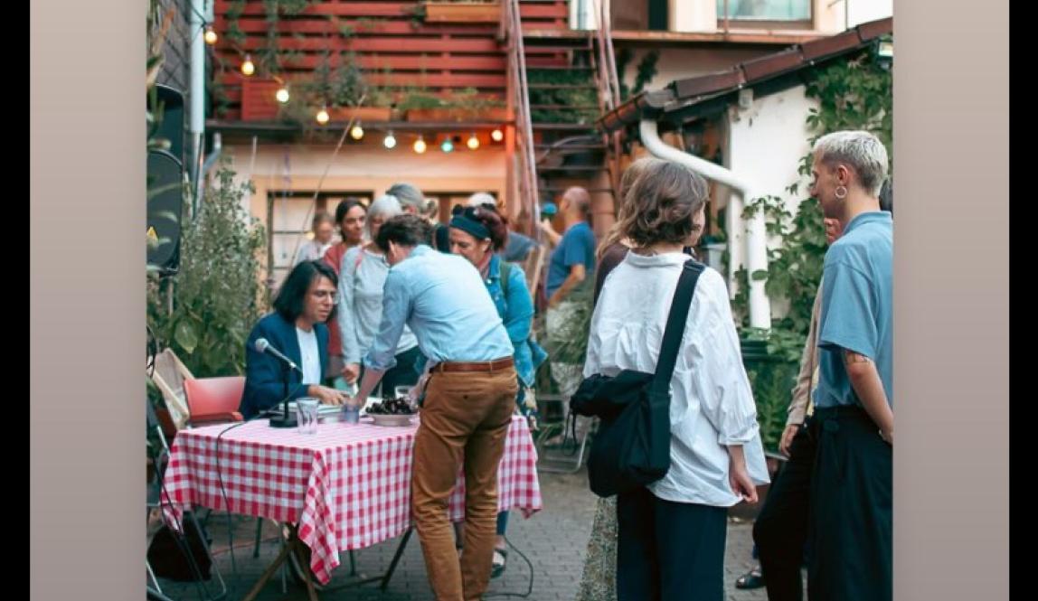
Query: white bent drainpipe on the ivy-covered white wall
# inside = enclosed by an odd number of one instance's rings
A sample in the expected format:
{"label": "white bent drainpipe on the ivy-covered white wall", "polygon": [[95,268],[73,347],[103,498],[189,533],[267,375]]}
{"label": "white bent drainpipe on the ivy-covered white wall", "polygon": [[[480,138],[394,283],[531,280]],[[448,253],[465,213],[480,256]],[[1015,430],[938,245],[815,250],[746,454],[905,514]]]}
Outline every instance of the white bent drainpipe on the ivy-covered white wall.
{"label": "white bent drainpipe on the ivy-covered white wall", "polygon": [[[729,200],[728,211],[726,212],[726,229],[729,234],[729,249],[731,250],[739,239],[742,238],[741,234],[736,231],[735,223],[737,216],[742,213],[745,200],[747,198],[758,198],[762,194],[755,191],[749,182],[739,177],[730,169],[726,169],[716,163],[711,163],[664,143],[659,137],[656,121],[643,119],[638,131],[641,134],[641,143],[653,156],[681,163],[707,180],[723,184],[737,193]],[[750,275],[757,271],[767,271],[768,252],[764,215],[758,212],[757,215],[746,221],[745,225],[746,269]],[[728,263],[729,291],[734,292],[735,262],[730,259]],[[749,326],[753,328],[771,328],[771,301],[764,292],[766,281],[766,279],[754,280],[753,277],[749,278]]]}

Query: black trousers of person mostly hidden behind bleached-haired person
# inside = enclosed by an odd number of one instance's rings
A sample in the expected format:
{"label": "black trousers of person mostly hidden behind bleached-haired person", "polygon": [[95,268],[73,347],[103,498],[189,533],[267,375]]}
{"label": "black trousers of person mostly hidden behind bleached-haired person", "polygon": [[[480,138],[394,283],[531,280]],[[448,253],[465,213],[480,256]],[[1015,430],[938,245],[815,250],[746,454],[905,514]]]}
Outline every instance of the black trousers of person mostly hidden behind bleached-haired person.
{"label": "black trousers of person mostly hidden behind bleached-haired person", "polygon": [[802,601],[803,550],[808,542],[811,475],[817,448],[816,421],[800,427],[789,448],[789,460],[775,475],[754,523],[754,543],[768,601]]}

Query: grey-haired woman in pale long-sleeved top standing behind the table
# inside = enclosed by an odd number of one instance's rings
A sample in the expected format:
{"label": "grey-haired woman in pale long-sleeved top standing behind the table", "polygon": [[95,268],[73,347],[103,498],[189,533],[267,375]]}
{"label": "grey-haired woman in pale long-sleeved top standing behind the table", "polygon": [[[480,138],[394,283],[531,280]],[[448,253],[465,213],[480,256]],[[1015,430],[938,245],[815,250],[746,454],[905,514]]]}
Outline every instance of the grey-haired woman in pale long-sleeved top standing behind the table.
{"label": "grey-haired woman in pale long-sleeved top standing behind the table", "polygon": [[[403,213],[395,196],[384,195],[367,208],[367,240],[375,240],[388,219]],[[361,376],[361,358],[367,354],[382,319],[382,289],[389,264],[374,242],[354,246],[343,255],[338,278],[338,325],[343,340],[343,377],[350,384]],[[380,383],[381,394],[393,394],[395,386],[413,386],[426,366],[418,340],[404,327],[397,347],[397,365]]]}

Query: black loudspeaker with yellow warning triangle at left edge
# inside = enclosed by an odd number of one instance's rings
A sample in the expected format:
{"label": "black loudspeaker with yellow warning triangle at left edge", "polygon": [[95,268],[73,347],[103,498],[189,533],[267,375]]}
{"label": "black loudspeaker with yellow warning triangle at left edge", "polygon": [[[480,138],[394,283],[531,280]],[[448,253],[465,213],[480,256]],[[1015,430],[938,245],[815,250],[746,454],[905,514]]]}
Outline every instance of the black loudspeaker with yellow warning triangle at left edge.
{"label": "black loudspeaker with yellow warning triangle at left edge", "polygon": [[184,166],[166,151],[147,153],[147,265],[173,274],[181,263]]}

